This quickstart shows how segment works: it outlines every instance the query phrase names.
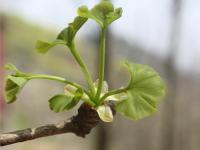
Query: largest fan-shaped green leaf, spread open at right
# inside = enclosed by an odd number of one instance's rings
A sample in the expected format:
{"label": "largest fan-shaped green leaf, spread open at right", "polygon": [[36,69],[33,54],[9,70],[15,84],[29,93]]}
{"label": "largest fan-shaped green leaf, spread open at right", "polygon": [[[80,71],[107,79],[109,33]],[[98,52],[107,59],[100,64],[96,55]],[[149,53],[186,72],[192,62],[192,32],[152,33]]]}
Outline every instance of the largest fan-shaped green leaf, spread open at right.
{"label": "largest fan-shaped green leaf, spread open at right", "polygon": [[163,80],[146,65],[126,62],[125,66],[131,74],[128,99],[117,103],[116,110],[134,120],[152,115],[165,94]]}

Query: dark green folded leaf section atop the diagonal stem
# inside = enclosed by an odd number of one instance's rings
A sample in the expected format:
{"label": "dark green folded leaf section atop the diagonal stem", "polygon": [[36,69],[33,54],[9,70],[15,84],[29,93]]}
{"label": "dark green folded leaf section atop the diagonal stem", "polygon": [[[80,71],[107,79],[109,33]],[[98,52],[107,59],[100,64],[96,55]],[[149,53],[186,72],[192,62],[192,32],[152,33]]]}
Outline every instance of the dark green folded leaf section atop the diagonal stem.
{"label": "dark green folded leaf section atop the diagonal stem", "polygon": [[72,23],[69,24],[67,28],[65,28],[61,33],[58,35],[58,40],[63,40],[66,44],[70,47],[76,33],[78,30],[85,24],[87,18],[83,17],[76,17]]}

